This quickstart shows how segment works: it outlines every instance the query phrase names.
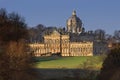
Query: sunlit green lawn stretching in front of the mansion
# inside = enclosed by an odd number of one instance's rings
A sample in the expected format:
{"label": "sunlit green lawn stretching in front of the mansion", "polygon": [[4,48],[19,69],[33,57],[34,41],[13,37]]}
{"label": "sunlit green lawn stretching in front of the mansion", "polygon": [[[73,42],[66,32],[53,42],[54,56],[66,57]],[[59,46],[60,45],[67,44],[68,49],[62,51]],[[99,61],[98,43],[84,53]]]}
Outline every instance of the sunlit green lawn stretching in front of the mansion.
{"label": "sunlit green lawn stretching in front of the mansion", "polygon": [[39,57],[34,58],[35,68],[57,68],[57,69],[100,69],[103,56],[92,57]]}

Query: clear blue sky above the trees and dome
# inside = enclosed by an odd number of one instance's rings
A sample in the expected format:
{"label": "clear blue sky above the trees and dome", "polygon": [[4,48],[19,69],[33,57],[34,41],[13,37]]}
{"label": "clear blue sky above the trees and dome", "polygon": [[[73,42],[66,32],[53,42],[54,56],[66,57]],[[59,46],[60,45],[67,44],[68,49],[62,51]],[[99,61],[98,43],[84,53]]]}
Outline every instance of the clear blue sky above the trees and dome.
{"label": "clear blue sky above the trees and dome", "polygon": [[66,26],[76,10],[86,30],[120,30],[120,0],[0,0],[0,8],[17,12],[29,26]]}

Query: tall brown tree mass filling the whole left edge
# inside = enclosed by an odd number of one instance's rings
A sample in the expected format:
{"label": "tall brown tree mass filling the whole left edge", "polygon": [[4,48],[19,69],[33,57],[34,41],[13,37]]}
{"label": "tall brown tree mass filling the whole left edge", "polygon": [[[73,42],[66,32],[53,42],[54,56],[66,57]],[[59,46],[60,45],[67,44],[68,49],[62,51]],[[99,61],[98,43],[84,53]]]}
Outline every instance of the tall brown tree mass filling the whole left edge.
{"label": "tall brown tree mass filling the whole left edge", "polygon": [[0,9],[0,78],[28,80],[31,56],[28,54],[27,25],[17,13]]}

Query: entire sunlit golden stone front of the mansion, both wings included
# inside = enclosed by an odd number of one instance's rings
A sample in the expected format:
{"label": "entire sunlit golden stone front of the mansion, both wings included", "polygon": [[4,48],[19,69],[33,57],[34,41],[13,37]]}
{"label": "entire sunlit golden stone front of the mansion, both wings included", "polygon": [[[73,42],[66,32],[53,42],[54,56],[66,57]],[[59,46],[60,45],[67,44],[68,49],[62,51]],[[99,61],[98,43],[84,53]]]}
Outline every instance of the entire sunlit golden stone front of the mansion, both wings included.
{"label": "entire sunlit golden stone front of the mansion, both wings included", "polygon": [[44,43],[30,44],[34,56],[92,56],[93,42],[71,42],[69,35],[61,35],[53,31],[44,36]]}

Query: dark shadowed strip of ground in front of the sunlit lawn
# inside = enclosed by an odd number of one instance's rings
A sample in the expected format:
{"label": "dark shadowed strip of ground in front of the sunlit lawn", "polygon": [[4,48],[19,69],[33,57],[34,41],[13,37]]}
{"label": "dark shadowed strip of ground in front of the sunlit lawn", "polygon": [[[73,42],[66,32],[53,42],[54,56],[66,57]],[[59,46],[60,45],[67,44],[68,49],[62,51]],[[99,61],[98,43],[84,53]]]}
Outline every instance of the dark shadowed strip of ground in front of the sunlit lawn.
{"label": "dark shadowed strip of ground in front of the sunlit lawn", "polygon": [[32,69],[37,80],[96,80],[99,71],[83,69]]}

